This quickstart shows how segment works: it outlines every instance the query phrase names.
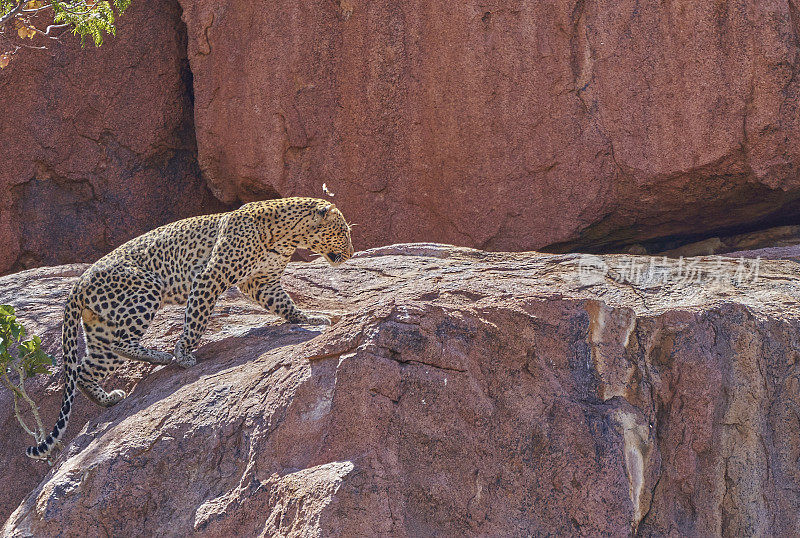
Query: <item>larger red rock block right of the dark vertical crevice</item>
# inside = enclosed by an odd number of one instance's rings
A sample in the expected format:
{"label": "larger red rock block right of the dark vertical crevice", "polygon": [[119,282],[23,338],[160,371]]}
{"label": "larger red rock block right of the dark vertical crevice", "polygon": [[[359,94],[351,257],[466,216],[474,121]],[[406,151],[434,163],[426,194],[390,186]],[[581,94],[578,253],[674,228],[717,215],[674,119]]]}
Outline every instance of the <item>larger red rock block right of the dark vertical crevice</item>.
{"label": "larger red rock block right of the dark vertical crevice", "polygon": [[181,4],[226,202],[325,182],[361,247],[495,250],[798,213],[791,4]]}

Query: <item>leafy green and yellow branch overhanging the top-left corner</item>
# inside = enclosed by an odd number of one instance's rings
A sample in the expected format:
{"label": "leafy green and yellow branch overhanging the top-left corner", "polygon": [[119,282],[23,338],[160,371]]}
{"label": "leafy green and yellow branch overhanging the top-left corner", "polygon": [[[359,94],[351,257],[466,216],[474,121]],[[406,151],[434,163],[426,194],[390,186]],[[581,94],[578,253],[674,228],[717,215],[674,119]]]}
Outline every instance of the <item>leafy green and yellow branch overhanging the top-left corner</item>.
{"label": "leafy green and yellow branch overhanging the top-left corner", "polygon": [[81,45],[89,37],[99,47],[103,34],[116,35],[116,17],[130,4],[131,0],[0,0],[0,69],[20,50],[47,48],[46,43],[69,32],[80,36]]}

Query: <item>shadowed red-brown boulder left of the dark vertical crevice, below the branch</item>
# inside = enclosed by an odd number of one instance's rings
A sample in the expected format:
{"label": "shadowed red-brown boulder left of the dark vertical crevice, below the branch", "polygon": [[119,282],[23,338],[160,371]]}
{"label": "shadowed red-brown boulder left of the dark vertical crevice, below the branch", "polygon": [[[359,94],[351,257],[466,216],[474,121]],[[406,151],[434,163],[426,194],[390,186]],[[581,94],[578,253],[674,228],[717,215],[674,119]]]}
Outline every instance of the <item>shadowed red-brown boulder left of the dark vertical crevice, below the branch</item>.
{"label": "shadowed red-brown boulder left of the dark vertical crevice, below the branch", "polygon": [[65,38],[0,74],[0,274],[223,208],[197,168],[180,8],[134,2],[118,22],[99,49]]}

